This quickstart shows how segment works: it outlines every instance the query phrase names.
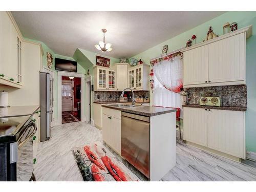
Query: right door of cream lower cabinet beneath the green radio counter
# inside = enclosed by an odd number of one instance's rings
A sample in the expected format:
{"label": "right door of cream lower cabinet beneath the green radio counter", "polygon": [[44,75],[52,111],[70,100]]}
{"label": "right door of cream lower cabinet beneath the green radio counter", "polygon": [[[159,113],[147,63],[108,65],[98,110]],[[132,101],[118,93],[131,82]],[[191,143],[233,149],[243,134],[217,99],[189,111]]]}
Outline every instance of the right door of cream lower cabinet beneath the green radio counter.
{"label": "right door of cream lower cabinet beneath the green radio counter", "polygon": [[208,147],[244,159],[244,112],[210,110],[208,117]]}

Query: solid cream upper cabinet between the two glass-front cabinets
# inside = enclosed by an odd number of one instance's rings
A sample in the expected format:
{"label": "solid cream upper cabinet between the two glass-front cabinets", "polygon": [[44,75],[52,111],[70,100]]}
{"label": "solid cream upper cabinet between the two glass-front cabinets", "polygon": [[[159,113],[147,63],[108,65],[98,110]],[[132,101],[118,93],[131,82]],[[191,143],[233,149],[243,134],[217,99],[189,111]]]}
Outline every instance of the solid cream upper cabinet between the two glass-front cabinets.
{"label": "solid cream upper cabinet between the two glass-front cabinets", "polygon": [[128,63],[116,63],[116,85],[117,90],[127,88],[128,84]]}

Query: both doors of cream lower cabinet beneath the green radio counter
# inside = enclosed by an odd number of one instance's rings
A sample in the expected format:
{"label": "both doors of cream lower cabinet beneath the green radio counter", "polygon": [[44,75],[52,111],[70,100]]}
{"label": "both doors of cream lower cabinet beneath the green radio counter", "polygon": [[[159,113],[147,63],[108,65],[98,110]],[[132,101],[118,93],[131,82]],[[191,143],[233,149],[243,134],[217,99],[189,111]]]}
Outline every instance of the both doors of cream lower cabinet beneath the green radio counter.
{"label": "both doors of cream lower cabinet beneath the green radio counter", "polygon": [[245,159],[245,112],[183,109],[184,140]]}

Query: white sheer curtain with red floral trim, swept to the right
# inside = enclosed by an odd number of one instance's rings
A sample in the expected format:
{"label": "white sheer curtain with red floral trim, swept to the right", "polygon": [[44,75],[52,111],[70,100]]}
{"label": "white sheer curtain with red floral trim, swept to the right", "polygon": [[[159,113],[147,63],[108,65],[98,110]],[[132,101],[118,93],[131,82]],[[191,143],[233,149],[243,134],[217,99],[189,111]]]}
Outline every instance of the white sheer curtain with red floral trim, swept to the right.
{"label": "white sheer curtain with red floral trim, swept to the right", "polygon": [[172,92],[179,93],[183,87],[182,62],[180,54],[168,55],[151,62],[154,75],[162,86]]}

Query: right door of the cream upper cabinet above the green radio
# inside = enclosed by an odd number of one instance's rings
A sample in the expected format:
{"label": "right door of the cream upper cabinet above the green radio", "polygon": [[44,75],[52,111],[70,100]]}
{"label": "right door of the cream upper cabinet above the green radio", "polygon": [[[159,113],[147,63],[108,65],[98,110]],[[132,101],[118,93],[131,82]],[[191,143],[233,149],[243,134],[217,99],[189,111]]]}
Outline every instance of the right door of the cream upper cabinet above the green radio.
{"label": "right door of the cream upper cabinet above the green radio", "polygon": [[208,45],[210,83],[245,80],[245,33]]}

